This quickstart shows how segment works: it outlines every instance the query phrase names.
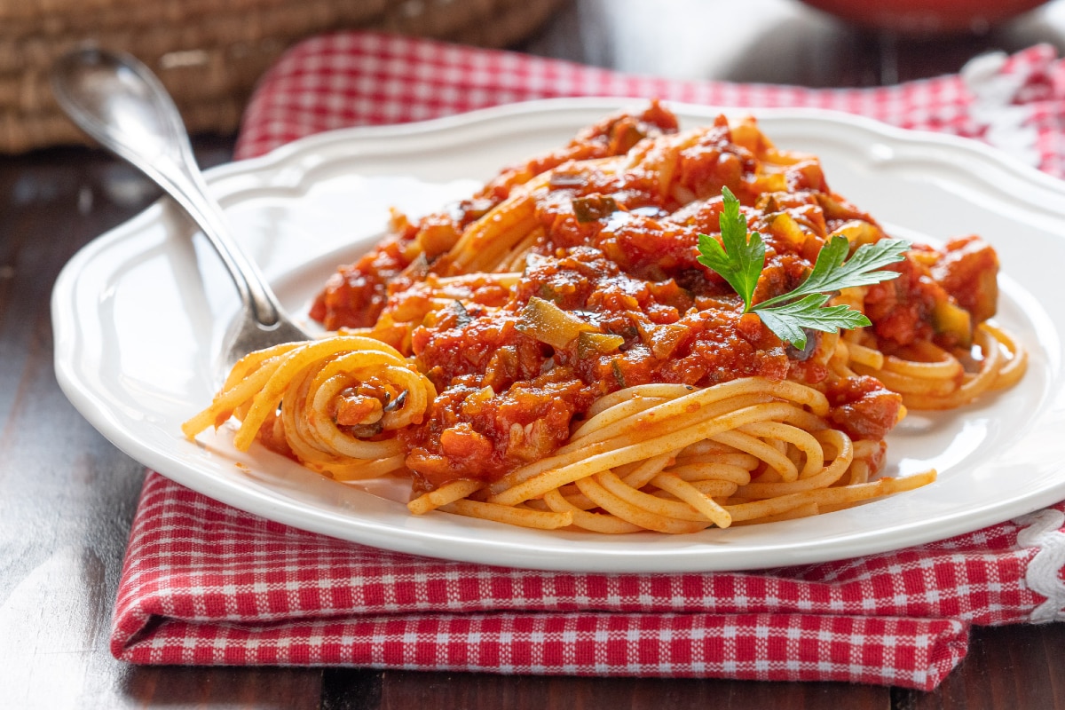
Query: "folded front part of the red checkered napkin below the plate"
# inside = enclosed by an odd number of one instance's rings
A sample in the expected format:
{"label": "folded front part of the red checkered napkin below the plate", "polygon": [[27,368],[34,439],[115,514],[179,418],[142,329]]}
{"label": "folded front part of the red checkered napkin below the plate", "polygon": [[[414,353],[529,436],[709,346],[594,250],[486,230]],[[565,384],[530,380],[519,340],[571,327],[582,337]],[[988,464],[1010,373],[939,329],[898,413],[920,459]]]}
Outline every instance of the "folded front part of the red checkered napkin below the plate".
{"label": "folded front part of the red checkered napkin below the plate", "polygon": [[1065,618],[1065,503],[758,573],[490,567],[346,543],[149,472],[112,651],[134,663],[840,680],[931,690],[972,624]]}

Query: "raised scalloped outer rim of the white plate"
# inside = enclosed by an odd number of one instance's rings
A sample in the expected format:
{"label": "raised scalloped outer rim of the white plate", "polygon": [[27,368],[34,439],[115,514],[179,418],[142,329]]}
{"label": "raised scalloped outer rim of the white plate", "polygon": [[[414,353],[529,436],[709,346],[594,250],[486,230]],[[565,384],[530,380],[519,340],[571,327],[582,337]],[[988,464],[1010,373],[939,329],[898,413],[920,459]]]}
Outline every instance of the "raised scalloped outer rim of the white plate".
{"label": "raised scalloped outer rim of the white plate", "polygon": [[[317,162],[314,162],[314,167],[329,164],[328,153],[331,151],[343,153],[344,160],[347,160],[349,156],[345,151],[351,152],[354,150],[355,153],[358,153],[359,144],[363,144],[363,147],[372,152],[387,152],[386,149],[390,142],[403,142],[412,136],[416,139],[439,137],[447,141],[452,133],[469,132],[478,125],[503,126],[505,129],[507,122],[521,123],[531,120],[534,116],[553,116],[556,119],[562,116],[564,122],[567,115],[594,114],[596,112],[603,114],[620,105],[629,105],[635,102],[636,99],[632,98],[550,99],[486,109],[422,123],[341,129],[299,139],[261,158],[214,168],[208,171],[208,181],[226,204],[232,207],[242,200],[253,198],[258,192],[276,189],[279,183],[289,184],[293,178],[299,178],[299,170],[291,171],[284,176],[281,174],[293,165],[298,165],[302,160],[318,159]],[[888,143],[945,147],[960,161],[960,164],[953,167],[964,167],[967,161],[976,159],[1002,170],[1004,175],[1027,182],[1029,186],[1065,195],[1065,183],[1012,161],[996,149],[955,136],[905,131],[868,118],[818,109],[716,109],[676,102],[667,103],[684,116],[707,118],[712,117],[719,111],[733,115],[751,113],[759,119],[770,122],[809,121],[821,126],[846,126]],[[579,126],[574,128],[579,128]],[[513,158],[520,158],[520,155]],[[332,160],[339,161],[341,158],[334,156]],[[946,164],[950,163],[941,155],[937,160],[945,161]],[[306,166],[304,176],[306,177]],[[250,179],[251,184],[243,185],[242,181],[247,179]],[[299,180],[296,183],[298,184]],[[840,192],[847,194],[846,188],[841,188]],[[1014,195],[1011,193],[1011,196]],[[1016,197],[1023,202],[1032,199],[1028,194],[1016,195]],[[1060,219],[1061,224],[1065,226],[1065,213],[1052,210],[1050,213],[1052,218]],[[992,502],[976,510],[944,515],[935,522],[935,525],[900,526],[894,529],[897,536],[890,540],[885,539],[884,531],[855,531],[847,535],[846,539],[815,540],[812,547],[798,547],[793,543],[775,545],[766,543],[758,550],[753,550],[761,554],[752,557],[752,550],[730,549],[735,546],[732,540],[704,540],[698,535],[685,536],[686,539],[682,540],[674,539],[668,545],[649,543],[648,541],[661,540],[661,538],[648,534],[605,540],[584,534],[574,536],[572,533],[547,538],[544,538],[543,534],[534,534],[528,535],[527,540],[515,543],[512,534],[501,534],[496,538],[478,536],[485,529],[496,530],[491,524],[488,524],[488,528],[486,528],[486,524],[470,522],[465,528],[471,531],[468,535],[461,533],[462,526],[459,526],[458,533],[456,533],[454,525],[441,528],[436,522],[444,516],[443,514],[410,519],[404,525],[382,526],[379,521],[365,519],[358,515],[338,517],[329,511],[309,509],[298,500],[276,491],[249,489],[234,483],[232,480],[212,480],[189,463],[186,451],[167,449],[165,446],[146,441],[131,430],[129,416],[109,404],[105,393],[100,392],[98,385],[86,381],[85,376],[79,373],[71,349],[71,339],[78,337],[79,326],[73,316],[77,307],[68,301],[76,296],[77,287],[81,285],[80,280],[83,278],[85,269],[99,269],[98,262],[101,254],[105,254],[106,250],[117,243],[135,241],[150,227],[162,226],[165,229],[167,214],[161,203],[152,205],[92,242],[80,250],[63,269],[56,280],[52,296],[58,380],[64,393],[85,418],[120,449],[141,463],[204,495],[280,523],[398,551],[487,564],[586,572],[685,572],[806,564],[855,555],[882,552],[968,532],[1065,498],[1065,469],[1059,467],[1055,473],[1055,482],[1042,485],[1041,490],[1035,493],[1017,497],[1009,502]],[[1056,335],[1058,333],[1054,333],[1055,337]],[[1060,339],[1055,342],[1060,342]],[[1056,369],[1051,371],[1049,376],[1060,378],[1060,363],[1055,367]],[[1058,411],[1060,402],[1055,401],[1054,408],[1055,416],[1060,415]],[[181,439],[180,432],[177,432],[177,437]],[[463,521],[463,524],[465,523]],[[810,523],[810,521],[802,523]],[[776,525],[783,526],[780,529],[786,531],[797,529],[792,524]],[[748,529],[750,530],[750,528]],[[547,544],[552,540],[567,541],[567,543],[566,545]],[[576,546],[576,555],[560,558],[560,552],[564,551],[568,545]],[[742,548],[742,545],[739,547]]]}

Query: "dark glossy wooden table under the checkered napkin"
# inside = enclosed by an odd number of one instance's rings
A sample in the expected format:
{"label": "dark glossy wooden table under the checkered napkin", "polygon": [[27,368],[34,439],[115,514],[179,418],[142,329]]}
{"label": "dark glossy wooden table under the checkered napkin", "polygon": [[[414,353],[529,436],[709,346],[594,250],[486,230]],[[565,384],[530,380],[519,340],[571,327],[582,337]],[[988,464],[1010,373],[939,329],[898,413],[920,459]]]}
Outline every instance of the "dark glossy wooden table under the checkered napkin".
{"label": "dark glossy wooden table under the checkered napkin", "polygon": [[[1035,42],[1065,48],[1065,0],[979,35],[850,29],[789,0],[580,0],[520,49],[676,78],[873,85]],[[232,136],[200,136],[201,162]],[[0,707],[1065,709],[1065,624],[981,628],[934,693],[843,683],[136,667],[108,649],[143,467],[67,402],[48,300],[82,245],[158,197],[98,151],[0,158]]]}

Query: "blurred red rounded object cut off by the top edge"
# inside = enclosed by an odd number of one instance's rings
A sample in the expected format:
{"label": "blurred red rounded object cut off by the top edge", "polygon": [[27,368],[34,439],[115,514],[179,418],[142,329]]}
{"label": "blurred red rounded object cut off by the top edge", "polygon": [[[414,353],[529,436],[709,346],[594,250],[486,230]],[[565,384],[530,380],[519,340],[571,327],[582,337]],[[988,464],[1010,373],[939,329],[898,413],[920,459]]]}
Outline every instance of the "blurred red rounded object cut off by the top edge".
{"label": "blurred red rounded object cut off by the top edge", "polygon": [[803,0],[807,5],[873,30],[903,34],[980,32],[1046,0]]}

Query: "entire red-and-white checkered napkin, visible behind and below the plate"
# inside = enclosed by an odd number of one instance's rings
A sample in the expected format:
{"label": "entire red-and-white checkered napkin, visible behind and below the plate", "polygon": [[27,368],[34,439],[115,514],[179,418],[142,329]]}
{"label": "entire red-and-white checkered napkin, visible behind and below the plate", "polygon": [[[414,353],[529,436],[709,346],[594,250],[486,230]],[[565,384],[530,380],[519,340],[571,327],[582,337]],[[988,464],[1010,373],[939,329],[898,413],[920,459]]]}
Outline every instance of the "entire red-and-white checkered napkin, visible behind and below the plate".
{"label": "entire red-and-white checkered napkin, visible behind and below the plate", "polygon": [[[666,81],[424,39],[342,33],[264,78],[237,155],[342,126],[522,99],[626,95],[805,105],[980,137],[1065,174],[1065,63],[1047,47],[871,89]],[[112,651],[135,663],[843,680],[930,690],[972,624],[1065,620],[1065,502],[931,545],[712,574],[530,572],[296,530],[149,472]]]}

